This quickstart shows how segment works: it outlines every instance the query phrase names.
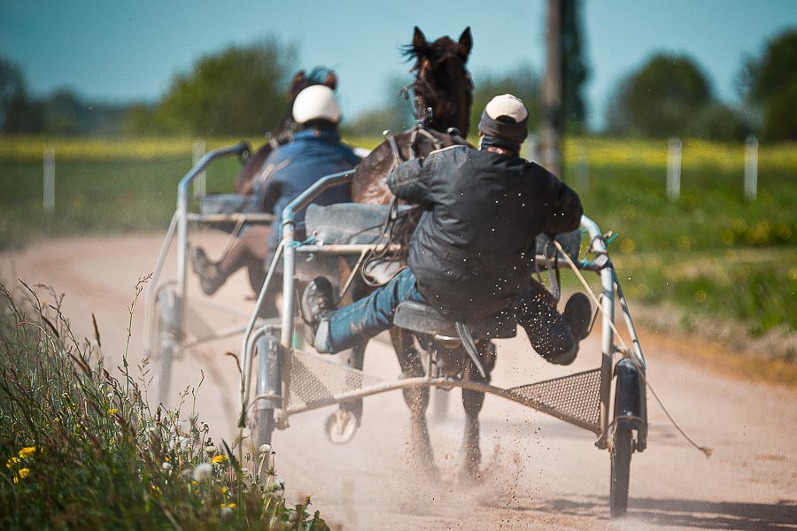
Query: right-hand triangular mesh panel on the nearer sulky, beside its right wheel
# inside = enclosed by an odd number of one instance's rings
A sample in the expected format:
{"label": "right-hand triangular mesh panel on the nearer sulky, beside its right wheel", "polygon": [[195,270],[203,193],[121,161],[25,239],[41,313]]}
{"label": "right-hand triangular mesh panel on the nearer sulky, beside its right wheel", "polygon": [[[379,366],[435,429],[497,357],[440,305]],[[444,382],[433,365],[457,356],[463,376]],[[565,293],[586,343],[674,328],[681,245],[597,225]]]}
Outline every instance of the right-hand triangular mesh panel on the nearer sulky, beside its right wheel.
{"label": "right-hand triangular mesh panel on the nearer sulky, beside its right wheel", "polygon": [[600,369],[507,389],[509,398],[600,433]]}

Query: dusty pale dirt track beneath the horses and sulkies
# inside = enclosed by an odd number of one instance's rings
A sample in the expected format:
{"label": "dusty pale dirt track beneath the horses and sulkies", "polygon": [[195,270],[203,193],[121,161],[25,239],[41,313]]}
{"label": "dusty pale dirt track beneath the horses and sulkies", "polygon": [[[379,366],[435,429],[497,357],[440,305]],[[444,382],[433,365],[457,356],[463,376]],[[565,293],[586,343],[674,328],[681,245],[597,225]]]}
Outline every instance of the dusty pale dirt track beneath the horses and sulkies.
{"label": "dusty pale dirt track beneath the horses and sulkies", "polygon": [[[224,240],[203,235],[218,252]],[[66,292],[75,331],[91,336],[91,312],[108,366],[120,363],[134,285],[150,273],[160,236],[46,242],[0,256],[0,278],[50,284]],[[174,271],[174,263],[167,264]],[[193,282],[193,281],[192,281]],[[196,283],[191,284],[198,295]],[[250,311],[243,273],[213,302]],[[135,310],[129,359],[143,357],[143,300]],[[667,350],[654,333],[641,336],[649,379],[669,411],[700,444],[706,459],[685,443],[650,397],[648,449],[631,463],[628,516],[608,516],[609,458],[594,436],[498,397],[482,413],[484,481],[456,480],[463,414],[452,391],[449,418],[433,423],[432,441],[442,480],[430,484],[409,464],[408,414],[400,393],[366,400],[363,427],[347,446],[322,433],[329,410],[290,419],[275,433],[278,473],[290,501],[313,496],[313,507],[345,529],[797,529],[797,395],[793,391],[729,380],[690,363],[688,344]],[[191,352],[178,363],[178,390],[205,383],[197,410],[214,437],[235,433],[240,339]],[[575,366],[546,366],[525,337],[499,342],[493,382],[509,387],[599,366],[597,334],[583,344]],[[394,378],[399,366],[384,342],[371,342],[366,371]],[[190,408],[190,401],[187,406]]]}

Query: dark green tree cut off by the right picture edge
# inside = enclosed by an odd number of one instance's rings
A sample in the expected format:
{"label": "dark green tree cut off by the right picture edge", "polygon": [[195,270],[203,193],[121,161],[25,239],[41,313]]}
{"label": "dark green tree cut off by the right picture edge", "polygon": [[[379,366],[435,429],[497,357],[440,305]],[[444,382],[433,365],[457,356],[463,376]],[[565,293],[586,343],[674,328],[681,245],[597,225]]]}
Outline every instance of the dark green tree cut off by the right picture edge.
{"label": "dark green tree cut off by the right picture edge", "polygon": [[739,91],[761,113],[762,138],[797,140],[797,29],[774,37],[760,56],[745,60]]}

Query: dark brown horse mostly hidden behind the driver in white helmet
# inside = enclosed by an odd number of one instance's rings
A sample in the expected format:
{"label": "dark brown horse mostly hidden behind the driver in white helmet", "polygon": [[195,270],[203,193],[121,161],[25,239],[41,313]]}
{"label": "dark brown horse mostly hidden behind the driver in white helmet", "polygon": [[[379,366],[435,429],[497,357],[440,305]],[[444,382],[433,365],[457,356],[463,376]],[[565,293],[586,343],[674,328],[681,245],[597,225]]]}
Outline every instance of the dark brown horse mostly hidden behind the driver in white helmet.
{"label": "dark brown horse mostly hidden behind the driver in white helmet", "polygon": [[241,196],[253,194],[257,184],[257,177],[262,171],[263,163],[266,162],[268,156],[282,144],[293,140],[293,134],[296,132],[297,127],[296,122],[293,121],[293,101],[299,92],[311,85],[326,85],[329,89],[335,90],[337,88],[337,75],[322,66],[313,68],[309,75],[304,70],[299,70],[294,74],[293,79],[290,81],[290,89],[288,89],[288,106],[285,108],[285,114],[276,129],[268,135],[268,142],[260,146],[259,150],[251,155],[244,167],[241,168],[241,171],[238,172],[235,186],[236,194]]}

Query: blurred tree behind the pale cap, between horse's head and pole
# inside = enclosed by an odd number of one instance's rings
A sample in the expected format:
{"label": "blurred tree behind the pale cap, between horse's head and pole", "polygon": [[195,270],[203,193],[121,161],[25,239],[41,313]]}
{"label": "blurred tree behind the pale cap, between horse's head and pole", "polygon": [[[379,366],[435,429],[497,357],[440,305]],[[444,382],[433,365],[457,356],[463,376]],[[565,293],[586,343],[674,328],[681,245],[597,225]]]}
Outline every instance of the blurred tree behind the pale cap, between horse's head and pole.
{"label": "blurred tree behind the pale cap, between horse's head and pole", "polygon": [[476,134],[484,106],[493,96],[513,94],[523,100],[529,109],[529,128],[537,126],[540,112],[540,81],[530,65],[517,65],[503,73],[478,73],[474,75],[473,108],[470,112],[471,129]]}

